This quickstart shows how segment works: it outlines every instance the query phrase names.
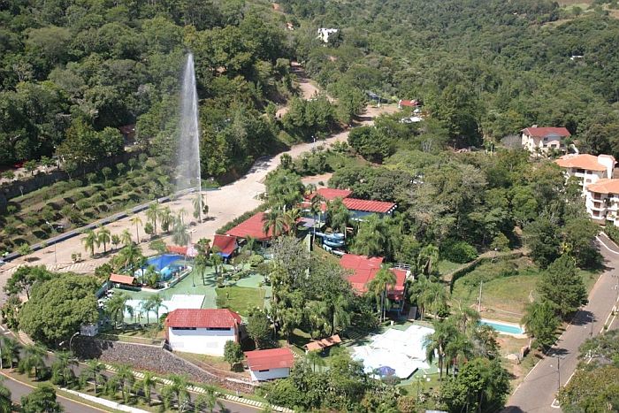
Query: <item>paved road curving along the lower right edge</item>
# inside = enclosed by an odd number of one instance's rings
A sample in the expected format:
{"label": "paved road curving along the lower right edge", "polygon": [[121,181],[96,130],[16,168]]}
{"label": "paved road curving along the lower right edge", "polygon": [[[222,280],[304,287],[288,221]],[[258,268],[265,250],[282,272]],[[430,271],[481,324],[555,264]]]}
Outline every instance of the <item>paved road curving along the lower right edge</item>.
{"label": "paved road curving along the lower right edge", "polygon": [[551,349],[552,356],[539,361],[516,388],[503,410],[505,413],[558,412],[560,408],[552,406],[554,396],[559,383],[565,386],[576,370],[578,347],[591,335],[598,335],[608,322],[612,321],[611,328],[619,327],[616,317],[615,320],[609,317],[619,294],[619,248],[605,235],[600,235],[598,243],[606,259],[607,271],[602,273],[589,294],[589,303],[577,312]]}

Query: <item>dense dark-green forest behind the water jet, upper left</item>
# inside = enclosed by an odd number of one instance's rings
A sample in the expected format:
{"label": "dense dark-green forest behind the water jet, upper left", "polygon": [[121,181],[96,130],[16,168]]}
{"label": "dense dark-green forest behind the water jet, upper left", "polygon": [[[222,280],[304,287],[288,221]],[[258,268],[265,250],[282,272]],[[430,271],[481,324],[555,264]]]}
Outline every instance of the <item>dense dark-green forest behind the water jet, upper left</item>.
{"label": "dense dark-green forest behind the water jet, upper left", "polygon": [[291,92],[291,48],[268,4],[7,1],[0,11],[0,165],[57,155],[67,171],[137,149],[172,160],[181,66],[195,53],[203,171],[277,150],[262,116]]}

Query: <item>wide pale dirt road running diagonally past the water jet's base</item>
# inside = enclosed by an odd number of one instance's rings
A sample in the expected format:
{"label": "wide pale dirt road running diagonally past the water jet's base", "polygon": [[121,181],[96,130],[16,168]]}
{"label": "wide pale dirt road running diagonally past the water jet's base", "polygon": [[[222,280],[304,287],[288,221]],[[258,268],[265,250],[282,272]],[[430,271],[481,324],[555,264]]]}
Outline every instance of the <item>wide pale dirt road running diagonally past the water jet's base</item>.
{"label": "wide pale dirt road running diagonally past the water jet's base", "polygon": [[[314,88],[311,86],[311,88]],[[310,92],[310,87],[307,88],[308,93]],[[397,107],[394,105],[390,106],[382,106],[380,108],[369,107],[363,113],[361,117],[361,121],[356,123],[355,126],[362,125],[370,125],[373,119],[381,113],[393,113],[397,111]],[[329,138],[325,139],[325,141],[318,141],[317,144],[322,145],[331,145],[336,141],[346,141],[348,139],[349,130],[340,132],[339,134],[333,134]],[[292,149],[288,150],[287,153],[291,157],[298,157],[303,152],[310,151],[313,147],[313,143],[302,143],[299,145],[295,145]],[[265,158],[262,160],[256,161],[256,164],[249,170],[249,172],[240,178],[239,180],[234,181],[233,183],[226,185],[225,187],[221,187],[216,191],[206,192],[207,203],[209,205],[209,218],[206,222],[202,224],[195,224],[195,222],[190,226],[190,235],[192,241],[197,241],[201,238],[210,238],[212,239],[215,231],[225,225],[225,223],[229,222],[233,218],[239,217],[244,212],[248,210],[253,210],[258,205],[260,205],[260,201],[257,199],[258,195],[264,192],[264,178],[268,172],[271,172],[279,165],[279,158],[283,155],[283,153],[271,157]],[[187,212],[187,220],[195,221],[192,217],[194,208],[192,205],[192,195],[187,195],[184,197],[180,197],[176,201],[172,203],[166,203],[167,206],[171,208],[173,212],[179,212],[180,210],[185,210]],[[146,224],[148,219],[144,212],[141,212],[136,215],[132,215],[131,217],[120,219],[114,223],[111,223],[107,227],[111,230],[111,233],[122,233],[125,229],[129,230],[129,232],[134,237],[134,241],[136,238],[135,226],[131,224],[130,219],[133,217],[141,218],[142,223]],[[146,255],[154,254],[155,251],[150,250],[148,248],[148,241],[146,234],[143,232],[142,227],[139,228],[139,235],[141,241],[141,248]],[[94,272],[95,268],[101,264],[106,263],[110,256],[103,257],[89,257],[88,253],[84,250],[82,240],[85,235],[80,235],[73,237],[69,240],[62,241],[57,243],[56,247],[51,246],[45,249],[41,249],[39,251],[34,252],[33,254],[27,256],[27,260],[25,257],[19,257],[11,263],[0,267],[0,287],[4,286],[6,279],[10,277],[11,273],[15,271],[15,269],[21,264],[31,264],[31,265],[47,265],[49,268],[54,267],[55,262],[55,254],[54,249],[56,248],[56,256],[57,256],[57,269],[60,271],[72,271],[72,272]],[[165,236],[163,241],[171,244],[171,236]],[[103,249],[96,249],[96,252],[102,252]],[[71,260],[72,253],[81,253],[82,257],[84,257],[84,261],[73,264]],[[4,293],[0,292],[0,298],[4,298]]]}

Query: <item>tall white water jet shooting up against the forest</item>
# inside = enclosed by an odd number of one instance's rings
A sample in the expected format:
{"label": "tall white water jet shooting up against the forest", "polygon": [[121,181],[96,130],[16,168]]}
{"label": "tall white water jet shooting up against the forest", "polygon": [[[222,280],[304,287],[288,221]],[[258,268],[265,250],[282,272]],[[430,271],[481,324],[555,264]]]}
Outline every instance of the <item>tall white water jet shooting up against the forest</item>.
{"label": "tall white water jet shooting up against the forest", "polygon": [[180,103],[180,139],[177,151],[177,187],[195,186],[198,197],[200,222],[202,222],[202,175],[200,173],[200,128],[198,126],[198,93],[195,88],[194,55],[187,55],[183,72]]}

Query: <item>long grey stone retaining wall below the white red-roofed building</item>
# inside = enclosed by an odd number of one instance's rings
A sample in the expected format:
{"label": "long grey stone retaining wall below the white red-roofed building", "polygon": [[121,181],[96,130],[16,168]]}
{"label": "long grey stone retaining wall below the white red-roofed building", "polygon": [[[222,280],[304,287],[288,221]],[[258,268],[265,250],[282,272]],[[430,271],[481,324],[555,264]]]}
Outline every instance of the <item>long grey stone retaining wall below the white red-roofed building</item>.
{"label": "long grey stone retaining wall below the white red-roofed building", "polygon": [[129,364],[135,370],[154,371],[162,376],[184,374],[198,383],[208,383],[243,393],[254,392],[254,386],[205,371],[157,346],[81,337],[80,340],[73,340],[73,350],[80,359],[97,358],[102,363]]}

